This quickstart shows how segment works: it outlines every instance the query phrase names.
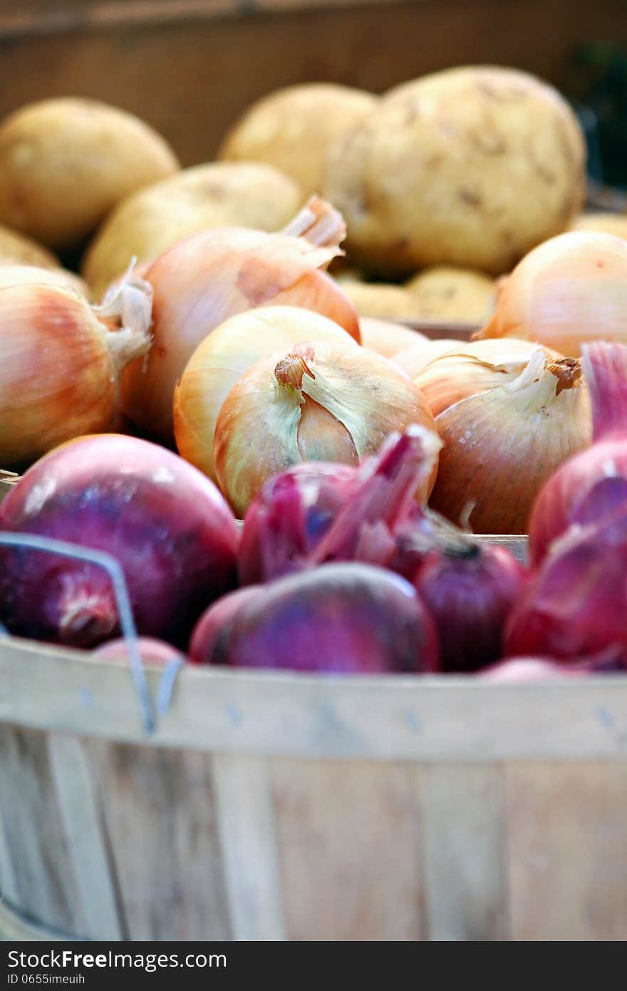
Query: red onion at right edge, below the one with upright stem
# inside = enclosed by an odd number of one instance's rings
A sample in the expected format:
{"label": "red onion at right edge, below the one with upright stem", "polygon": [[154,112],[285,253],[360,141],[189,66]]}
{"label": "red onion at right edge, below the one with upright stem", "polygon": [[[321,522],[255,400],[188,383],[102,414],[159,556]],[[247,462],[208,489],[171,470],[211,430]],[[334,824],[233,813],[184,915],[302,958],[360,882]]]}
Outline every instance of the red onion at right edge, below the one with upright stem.
{"label": "red onion at right edge, below the one with upright stem", "polygon": [[563,660],[627,648],[627,506],[555,541],[512,610],[505,654]]}

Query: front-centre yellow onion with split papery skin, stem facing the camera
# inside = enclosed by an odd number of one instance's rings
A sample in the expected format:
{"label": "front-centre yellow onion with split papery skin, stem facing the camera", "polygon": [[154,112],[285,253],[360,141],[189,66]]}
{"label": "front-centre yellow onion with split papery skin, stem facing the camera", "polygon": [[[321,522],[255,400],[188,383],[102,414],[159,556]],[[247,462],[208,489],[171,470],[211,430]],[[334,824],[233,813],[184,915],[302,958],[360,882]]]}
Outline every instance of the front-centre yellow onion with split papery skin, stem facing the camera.
{"label": "front-centre yellow onion with split papery skin, stem facing the camera", "polygon": [[278,472],[306,461],[356,465],[410,423],[435,434],[417,386],[387,359],[346,344],[295,345],[253,365],[223,402],[214,443],[220,488],[243,514]]}

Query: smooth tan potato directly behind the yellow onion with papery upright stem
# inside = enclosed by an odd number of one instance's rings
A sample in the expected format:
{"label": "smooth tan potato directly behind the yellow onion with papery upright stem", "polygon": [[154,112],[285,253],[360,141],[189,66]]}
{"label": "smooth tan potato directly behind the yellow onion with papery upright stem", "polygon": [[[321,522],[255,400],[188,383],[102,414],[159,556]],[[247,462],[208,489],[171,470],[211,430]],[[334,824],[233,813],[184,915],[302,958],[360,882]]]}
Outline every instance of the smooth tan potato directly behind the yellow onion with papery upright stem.
{"label": "smooth tan potato directly behind the yellow onion with papery upright stem", "polygon": [[271,165],[184,168],[120,203],[90,244],[82,275],[99,298],[132,258],[151,261],[208,227],[275,231],[293,217],[301,198],[297,185]]}

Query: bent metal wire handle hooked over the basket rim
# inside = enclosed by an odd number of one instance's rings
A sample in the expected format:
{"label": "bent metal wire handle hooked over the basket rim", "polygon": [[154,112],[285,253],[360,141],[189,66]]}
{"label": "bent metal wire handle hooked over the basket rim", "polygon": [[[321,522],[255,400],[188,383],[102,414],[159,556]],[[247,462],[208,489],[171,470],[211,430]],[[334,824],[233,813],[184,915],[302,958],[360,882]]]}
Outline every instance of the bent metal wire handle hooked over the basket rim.
{"label": "bent metal wire handle hooked over the basket rim", "polygon": [[[138,698],[142,722],[147,733],[154,733],[157,728],[157,716],[148,687],[146,669],[138,647],[137,627],[133,618],[133,609],[131,608],[126,579],[120,563],[105,551],[90,550],[79,544],[69,543],[67,540],[53,540],[52,537],[35,536],[32,533],[0,533],[0,545],[3,544],[6,547],[30,547],[32,550],[74,558],[76,561],[86,561],[88,564],[95,564],[107,572],[113,586],[120,627],[129,652],[129,666]],[[9,635],[9,631],[1,624],[0,634]],[[173,680],[180,666],[180,662],[174,661],[168,664],[163,672],[159,692],[159,713],[165,712],[169,705]]]}

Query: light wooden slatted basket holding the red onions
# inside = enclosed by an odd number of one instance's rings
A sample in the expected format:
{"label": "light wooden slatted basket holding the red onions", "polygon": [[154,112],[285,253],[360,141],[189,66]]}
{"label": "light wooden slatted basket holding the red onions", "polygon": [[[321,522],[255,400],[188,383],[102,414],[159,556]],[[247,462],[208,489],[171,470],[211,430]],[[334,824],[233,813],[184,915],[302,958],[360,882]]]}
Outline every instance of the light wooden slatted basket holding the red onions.
{"label": "light wooden slatted basket holding the red onions", "polygon": [[149,739],[124,667],[10,639],[0,752],[5,938],[627,937],[624,678],[189,667]]}

